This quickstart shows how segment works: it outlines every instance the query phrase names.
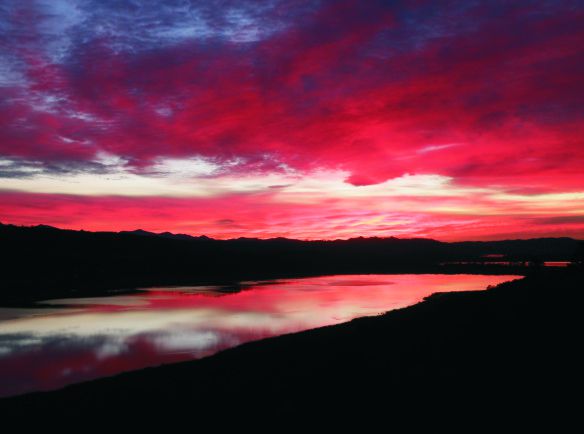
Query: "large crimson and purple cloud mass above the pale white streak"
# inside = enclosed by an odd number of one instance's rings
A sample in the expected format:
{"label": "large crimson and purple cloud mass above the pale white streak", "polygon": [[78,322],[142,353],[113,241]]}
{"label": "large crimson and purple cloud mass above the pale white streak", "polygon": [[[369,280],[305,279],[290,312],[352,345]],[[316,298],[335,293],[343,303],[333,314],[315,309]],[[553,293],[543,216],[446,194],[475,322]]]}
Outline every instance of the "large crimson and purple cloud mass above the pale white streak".
{"label": "large crimson and purple cloud mass above the pale white streak", "polygon": [[106,152],[145,173],[197,155],[224,171],[342,169],[357,186],[409,173],[581,191],[584,12],[503,3],[334,2],[246,44],[126,52],[102,36],[61,62],[33,41],[15,54],[22,82],[0,88],[0,156],[83,170]]}

